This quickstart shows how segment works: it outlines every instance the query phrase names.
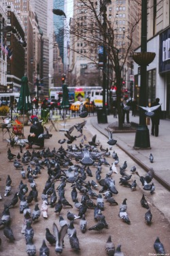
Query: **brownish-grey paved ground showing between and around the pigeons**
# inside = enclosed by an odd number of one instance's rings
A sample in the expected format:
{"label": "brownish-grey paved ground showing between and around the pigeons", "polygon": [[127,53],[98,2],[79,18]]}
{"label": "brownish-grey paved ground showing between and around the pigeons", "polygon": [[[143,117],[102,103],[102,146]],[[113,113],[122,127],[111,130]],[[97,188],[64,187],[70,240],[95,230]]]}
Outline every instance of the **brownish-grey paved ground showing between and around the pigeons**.
{"label": "brownish-grey paved ground showing between and around the pigeons", "polygon": [[[92,117],[91,117],[92,118]],[[76,120],[76,121],[75,121]],[[82,122],[83,119],[71,119],[68,120],[65,124],[65,128],[70,128],[73,125],[73,122]],[[63,125],[61,122],[61,125],[58,125],[58,129],[62,130]],[[48,124],[50,126],[50,124]],[[29,133],[29,128],[25,129],[25,133]],[[61,145],[58,145],[58,139],[63,139],[65,137],[65,132],[55,132],[52,131],[53,137],[50,140],[46,140],[46,148],[50,147],[50,150],[52,150],[54,147],[56,147],[56,150],[58,150],[58,147]],[[73,130],[73,135],[76,134],[75,130]],[[95,128],[93,128],[90,125],[90,118],[87,119],[87,124],[84,127],[83,134],[86,135],[87,141],[84,143],[87,143],[88,141],[91,141],[92,136],[94,134],[97,134],[97,141],[100,142],[100,145],[102,145],[103,148],[107,148],[107,139],[97,132]],[[1,139],[1,138],[0,138]],[[82,137],[78,138],[73,143],[76,143],[77,145],[80,144]],[[21,180],[20,171],[16,170],[14,168],[13,162],[7,160],[7,147],[6,143],[1,143],[1,149],[0,149],[0,161],[1,161],[1,169],[0,169],[0,191],[3,199],[0,201],[0,212],[3,211],[3,204],[8,203],[12,197],[14,196],[14,193],[18,191],[18,185]],[[63,144],[63,147],[67,149],[67,143]],[[137,189],[132,191],[130,188],[126,188],[124,186],[121,186],[119,184],[120,181],[120,173],[119,168],[123,165],[124,160],[127,162],[127,168],[126,173],[131,174],[131,167],[135,165],[137,168],[137,171],[140,175],[146,175],[146,172],[141,169],[138,165],[129,158],[129,156],[126,156],[122,150],[120,150],[116,145],[112,147],[111,155],[113,150],[118,154],[119,156],[119,165],[116,167],[118,174],[114,173],[112,175],[112,178],[115,180],[116,188],[118,190],[118,195],[114,195],[114,199],[118,202],[118,205],[112,205],[110,206],[109,203],[107,203],[105,200],[104,205],[105,209],[103,211],[103,215],[105,216],[105,220],[108,224],[108,229],[103,229],[102,231],[89,231],[87,230],[86,233],[81,233],[79,220],[75,220],[74,226],[77,230],[77,236],[80,242],[80,251],[76,253],[75,251],[71,251],[71,246],[69,244],[69,238],[66,235],[65,236],[65,248],[63,249],[62,255],[99,255],[103,256],[106,255],[105,253],[105,242],[107,241],[107,238],[109,235],[112,236],[112,242],[114,242],[115,246],[118,246],[118,244],[122,244],[122,252],[125,256],[147,256],[147,255],[154,255],[153,253],[156,253],[154,251],[154,241],[156,240],[156,237],[158,236],[160,238],[160,241],[163,242],[165,246],[165,252],[170,253],[170,215],[169,215],[169,192],[163,188],[156,180],[154,180],[154,184],[156,186],[156,190],[153,195],[150,195],[148,191],[144,191],[141,182],[139,181],[139,177],[136,174],[133,174],[130,183],[133,182],[133,180],[137,180]],[[14,147],[12,149],[12,153],[18,154],[18,147]],[[107,161],[110,165],[112,165],[112,162],[114,162],[114,159],[112,156],[107,157]],[[73,160],[74,162],[74,160]],[[77,163],[78,164],[78,163]],[[27,166],[24,166],[24,169],[27,170]],[[86,181],[95,180],[95,171],[96,167],[90,167],[92,170],[93,177],[86,178]],[[105,174],[109,171],[109,166],[102,165],[102,172],[101,177],[104,178]],[[7,178],[7,174],[10,174],[10,177],[12,178],[12,193],[9,197],[4,197],[4,191],[5,191],[5,180]],[[39,207],[41,207],[41,193],[44,189],[44,185],[46,183],[46,180],[48,179],[48,173],[47,168],[41,170],[41,174],[38,175],[37,179],[35,180],[37,184],[37,190],[39,192],[38,196],[38,203]],[[23,180],[24,183],[27,183],[27,180]],[[55,188],[61,183],[61,181],[55,182]],[[29,184],[28,184],[29,190],[31,190]],[[71,184],[67,183],[67,186],[65,187],[65,198],[73,205],[73,202],[71,201]],[[101,189],[101,186],[99,185],[98,188],[94,188],[95,192],[99,194],[99,190]],[[145,213],[146,209],[141,207],[141,197],[142,195],[145,195],[148,204],[150,205],[150,210],[152,212],[152,224],[147,225],[145,221]],[[28,194],[27,194],[28,195]],[[78,200],[80,201],[82,198],[82,194],[78,193]],[[119,205],[122,203],[124,199],[127,199],[127,213],[129,215],[131,224],[128,225],[122,221],[122,219],[118,216],[119,214]],[[96,202],[96,199],[92,199],[94,202]],[[30,208],[33,210],[35,206],[35,202],[31,203]],[[67,219],[67,211],[70,210],[71,212],[78,214],[78,210],[73,206],[72,208],[65,208],[61,211],[61,214],[65,219]],[[24,256],[27,255],[25,252],[25,240],[24,235],[21,233],[22,229],[22,223],[23,223],[23,214],[19,213],[19,203],[17,203],[15,208],[10,209],[10,215],[12,218],[12,230],[14,231],[14,236],[16,238],[16,241],[14,244],[7,241],[7,239],[3,236],[3,229],[0,229],[0,237],[2,239],[2,244],[0,246],[0,255],[2,256],[9,256],[9,255],[17,255],[17,256]],[[94,220],[94,214],[92,209],[88,209],[86,212],[86,219],[88,221],[88,228],[92,227],[96,224]],[[33,238],[33,242],[37,248],[37,254],[39,255],[39,248],[41,246],[42,240],[45,239],[45,229],[48,227],[50,231],[52,232],[52,224],[56,223],[56,225],[59,227],[58,224],[58,214],[54,213],[54,208],[50,208],[48,206],[48,219],[44,219],[42,216],[40,216],[39,221],[37,223],[33,223],[32,227],[35,231],[35,235]],[[54,251],[54,246],[50,246],[48,242],[46,242],[48,247],[50,248],[50,255],[56,255]],[[167,254],[168,255],[168,254]]]}

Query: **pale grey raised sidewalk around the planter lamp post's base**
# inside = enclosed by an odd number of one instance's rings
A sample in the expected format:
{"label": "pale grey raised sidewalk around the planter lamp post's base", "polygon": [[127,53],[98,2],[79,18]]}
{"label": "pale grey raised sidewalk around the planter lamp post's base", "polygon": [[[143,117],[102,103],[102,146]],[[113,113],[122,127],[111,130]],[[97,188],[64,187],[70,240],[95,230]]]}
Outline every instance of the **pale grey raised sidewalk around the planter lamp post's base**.
{"label": "pale grey raised sidewalk around the planter lamp post's base", "polygon": [[[91,124],[99,132],[108,137],[106,130],[107,126],[118,122],[118,118],[113,115],[107,116],[107,124],[98,124],[97,117],[91,119]],[[133,117],[130,113],[130,122],[139,124],[139,116]],[[159,135],[154,137],[151,135],[151,122],[148,126],[150,130],[150,150],[135,150],[133,149],[135,143],[135,132],[114,132],[113,137],[117,140],[116,145],[120,147],[126,154],[131,156],[138,165],[148,171],[150,167],[154,169],[155,179],[160,182],[165,188],[170,190],[170,122],[166,119],[160,120]],[[149,160],[150,153],[154,156],[154,162]]]}

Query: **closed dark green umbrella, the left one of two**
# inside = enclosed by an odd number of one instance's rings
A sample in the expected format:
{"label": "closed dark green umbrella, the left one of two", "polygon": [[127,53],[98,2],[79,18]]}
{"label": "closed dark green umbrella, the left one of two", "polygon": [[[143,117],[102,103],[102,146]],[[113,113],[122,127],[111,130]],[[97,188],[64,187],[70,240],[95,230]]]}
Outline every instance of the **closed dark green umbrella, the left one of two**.
{"label": "closed dark green umbrella, the left one of two", "polygon": [[28,82],[29,81],[27,76],[22,76],[21,87],[20,87],[20,97],[18,100],[17,109],[20,111],[20,113],[23,116],[32,108]]}

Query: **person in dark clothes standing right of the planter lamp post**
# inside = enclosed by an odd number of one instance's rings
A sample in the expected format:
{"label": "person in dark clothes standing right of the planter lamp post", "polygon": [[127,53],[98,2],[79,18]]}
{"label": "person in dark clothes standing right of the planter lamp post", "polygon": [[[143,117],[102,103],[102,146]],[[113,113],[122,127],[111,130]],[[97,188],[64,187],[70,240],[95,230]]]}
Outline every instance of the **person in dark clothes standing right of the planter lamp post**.
{"label": "person in dark clothes standing right of the planter lamp post", "polygon": [[[159,105],[159,98],[156,98],[155,102],[152,102],[151,106],[157,106]],[[158,107],[158,109],[156,109],[154,111],[154,115],[151,117],[152,120],[152,130],[151,130],[151,134],[155,135],[156,137],[158,137],[158,132],[159,132],[159,121],[160,121],[160,115],[161,115],[161,106]]]}

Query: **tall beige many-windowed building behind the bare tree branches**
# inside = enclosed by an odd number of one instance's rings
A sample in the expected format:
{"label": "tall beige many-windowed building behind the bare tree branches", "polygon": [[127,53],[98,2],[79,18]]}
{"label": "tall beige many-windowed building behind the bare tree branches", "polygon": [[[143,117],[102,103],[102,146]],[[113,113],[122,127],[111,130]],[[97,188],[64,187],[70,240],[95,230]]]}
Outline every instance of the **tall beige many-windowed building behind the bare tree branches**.
{"label": "tall beige many-windowed building behind the bare tree branches", "polygon": [[[69,71],[75,85],[101,85],[102,83],[102,70],[99,66],[94,66],[94,63],[99,63],[99,46],[95,44],[95,40],[100,41],[99,27],[95,22],[94,12],[97,17],[101,17],[101,6],[100,2],[96,1],[93,3],[92,8],[86,7],[84,1],[74,1],[73,5],[73,18],[71,19],[71,26],[75,26],[75,29],[80,29],[80,34],[84,34],[86,40],[82,40],[82,37],[71,36],[70,38],[70,54],[69,54]],[[90,3],[89,3],[90,5]],[[116,0],[109,3],[107,6],[107,31],[109,33],[109,27],[112,27],[114,31],[114,40],[111,38],[112,45],[119,51],[119,55],[126,55],[127,48],[129,47],[129,27],[132,27],[134,20],[136,19],[136,25],[133,31],[133,43],[132,49],[139,46],[140,38],[140,22],[139,17],[141,15],[140,7],[134,1],[128,0]],[[92,18],[92,16],[94,18]],[[90,31],[90,28],[93,32]],[[95,33],[94,33],[95,31]],[[94,33],[94,43],[88,44],[88,38],[91,38],[90,33]],[[92,41],[92,40],[90,40]],[[101,40],[102,42],[102,40]],[[107,63],[107,69],[109,64]],[[111,81],[114,81],[114,71],[110,71],[109,77]],[[126,63],[122,68],[122,80],[124,85],[130,89],[132,86],[130,82],[130,75],[133,73],[132,59],[129,56],[126,58]],[[87,76],[87,77],[85,77]],[[91,84],[93,83],[93,84]]]}

